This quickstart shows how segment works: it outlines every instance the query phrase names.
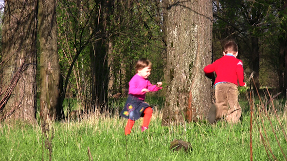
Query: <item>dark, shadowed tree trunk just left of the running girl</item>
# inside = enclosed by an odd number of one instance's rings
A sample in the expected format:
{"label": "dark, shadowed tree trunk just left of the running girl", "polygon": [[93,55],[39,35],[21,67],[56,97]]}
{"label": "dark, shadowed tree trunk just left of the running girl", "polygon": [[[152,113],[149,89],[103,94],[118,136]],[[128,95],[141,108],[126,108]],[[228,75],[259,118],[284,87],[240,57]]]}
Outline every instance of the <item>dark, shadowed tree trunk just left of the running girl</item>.
{"label": "dark, shadowed tree trunk just left of the running girl", "polygon": [[[91,80],[92,80],[92,103],[101,110],[108,106],[108,26],[110,25],[110,15],[113,13],[112,6],[114,0],[101,0],[100,16],[96,29],[103,33],[104,38],[93,42],[94,48],[90,51],[91,59]],[[101,22],[101,23],[99,23]]]}

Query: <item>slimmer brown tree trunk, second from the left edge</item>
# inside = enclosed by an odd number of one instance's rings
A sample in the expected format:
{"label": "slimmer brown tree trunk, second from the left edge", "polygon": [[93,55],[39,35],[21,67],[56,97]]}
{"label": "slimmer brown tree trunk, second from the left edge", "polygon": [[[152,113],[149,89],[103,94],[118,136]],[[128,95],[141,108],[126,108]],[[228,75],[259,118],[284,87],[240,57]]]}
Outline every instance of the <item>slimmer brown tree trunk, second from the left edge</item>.
{"label": "slimmer brown tree trunk, second from the left edge", "polygon": [[64,118],[61,93],[61,77],[58,48],[56,1],[39,0],[39,36],[40,36],[40,115],[43,119]]}

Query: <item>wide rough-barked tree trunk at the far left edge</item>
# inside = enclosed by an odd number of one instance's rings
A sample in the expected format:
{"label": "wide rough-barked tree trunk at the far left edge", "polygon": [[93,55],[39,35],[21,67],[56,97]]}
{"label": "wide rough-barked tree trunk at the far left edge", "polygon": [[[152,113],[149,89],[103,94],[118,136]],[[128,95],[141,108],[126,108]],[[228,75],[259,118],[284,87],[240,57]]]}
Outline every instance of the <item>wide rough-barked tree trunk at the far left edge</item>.
{"label": "wide rough-barked tree trunk at the far left edge", "polygon": [[[18,74],[18,69],[22,70],[16,81],[14,80],[15,85],[12,85],[14,91],[12,90],[8,97],[2,97],[8,102],[1,100],[1,114],[6,118],[31,123],[36,120],[37,7],[36,0],[6,0],[2,27],[4,63],[1,66],[1,91],[7,92],[10,81]],[[11,113],[13,114],[10,115]]]}

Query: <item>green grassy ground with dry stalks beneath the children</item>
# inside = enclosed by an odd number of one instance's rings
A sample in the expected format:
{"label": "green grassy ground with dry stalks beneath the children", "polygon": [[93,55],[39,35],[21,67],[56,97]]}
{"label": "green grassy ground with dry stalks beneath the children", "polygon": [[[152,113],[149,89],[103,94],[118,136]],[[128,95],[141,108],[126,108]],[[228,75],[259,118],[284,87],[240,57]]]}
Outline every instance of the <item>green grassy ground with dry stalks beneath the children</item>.
{"label": "green grassy ground with dry stalks beneath the children", "polygon": [[[50,138],[52,133],[54,134],[54,138],[50,141],[53,150],[52,160],[89,161],[88,147],[93,161],[250,160],[250,113],[247,110],[250,106],[245,105],[246,102],[243,100],[241,100],[244,106],[242,108],[245,109],[243,119],[236,125],[230,125],[224,121],[210,125],[203,120],[181,126],[161,127],[162,113],[159,109],[162,106],[162,99],[152,99],[150,98],[150,102],[155,105],[155,111],[149,129],[143,133],[140,131],[142,124],[140,119],[136,121],[131,135],[127,137],[124,135],[126,119],[121,118],[117,113],[110,117],[92,114],[81,121],[50,123],[50,131],[47,131],[47,134]],[[257,113],[255,111],[258,116]],[[278,142],[287,154],[286,139],[271,110],[269,110],[269,116]],[[274,160],[272,155],[269,153],[268,157],[265,151],[256,122],[265,139],[267,136],[274,156],[278,161],[285,160],[268,118],[266,116],[262,118],[263,122],[256,117],[253,121],[253,160],[266,161],[269,157]],[[287,119],[283,113],[280,113],[280,121],[286,133]],[[193,150],[172,152],[169,146],[174,139],[190,142]],[[45,140],[46,137],[43,137],[43,143]],[[27,125],[20,122],[0,123],[0,161],[40,161],[42,157],[47,161],[49,152],[43,145],[40,125]]]}

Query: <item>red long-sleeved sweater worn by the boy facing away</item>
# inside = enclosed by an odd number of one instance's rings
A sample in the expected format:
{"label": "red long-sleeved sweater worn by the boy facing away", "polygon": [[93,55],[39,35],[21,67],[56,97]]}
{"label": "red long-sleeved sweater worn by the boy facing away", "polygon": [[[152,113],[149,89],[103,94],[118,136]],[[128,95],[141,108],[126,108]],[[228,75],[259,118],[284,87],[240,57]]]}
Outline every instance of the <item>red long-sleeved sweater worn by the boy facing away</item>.
{"label": "red long-sleeved sweater worn by the boy facing away", "polygon": [[213,64],[204,67],[206,75],[212,75],[214,71],[217,75],[215,84],[218,82],[231,82],[238,85],[238,80],[240,86],[245,85],[243,63],[233,55],[225,55]]}

